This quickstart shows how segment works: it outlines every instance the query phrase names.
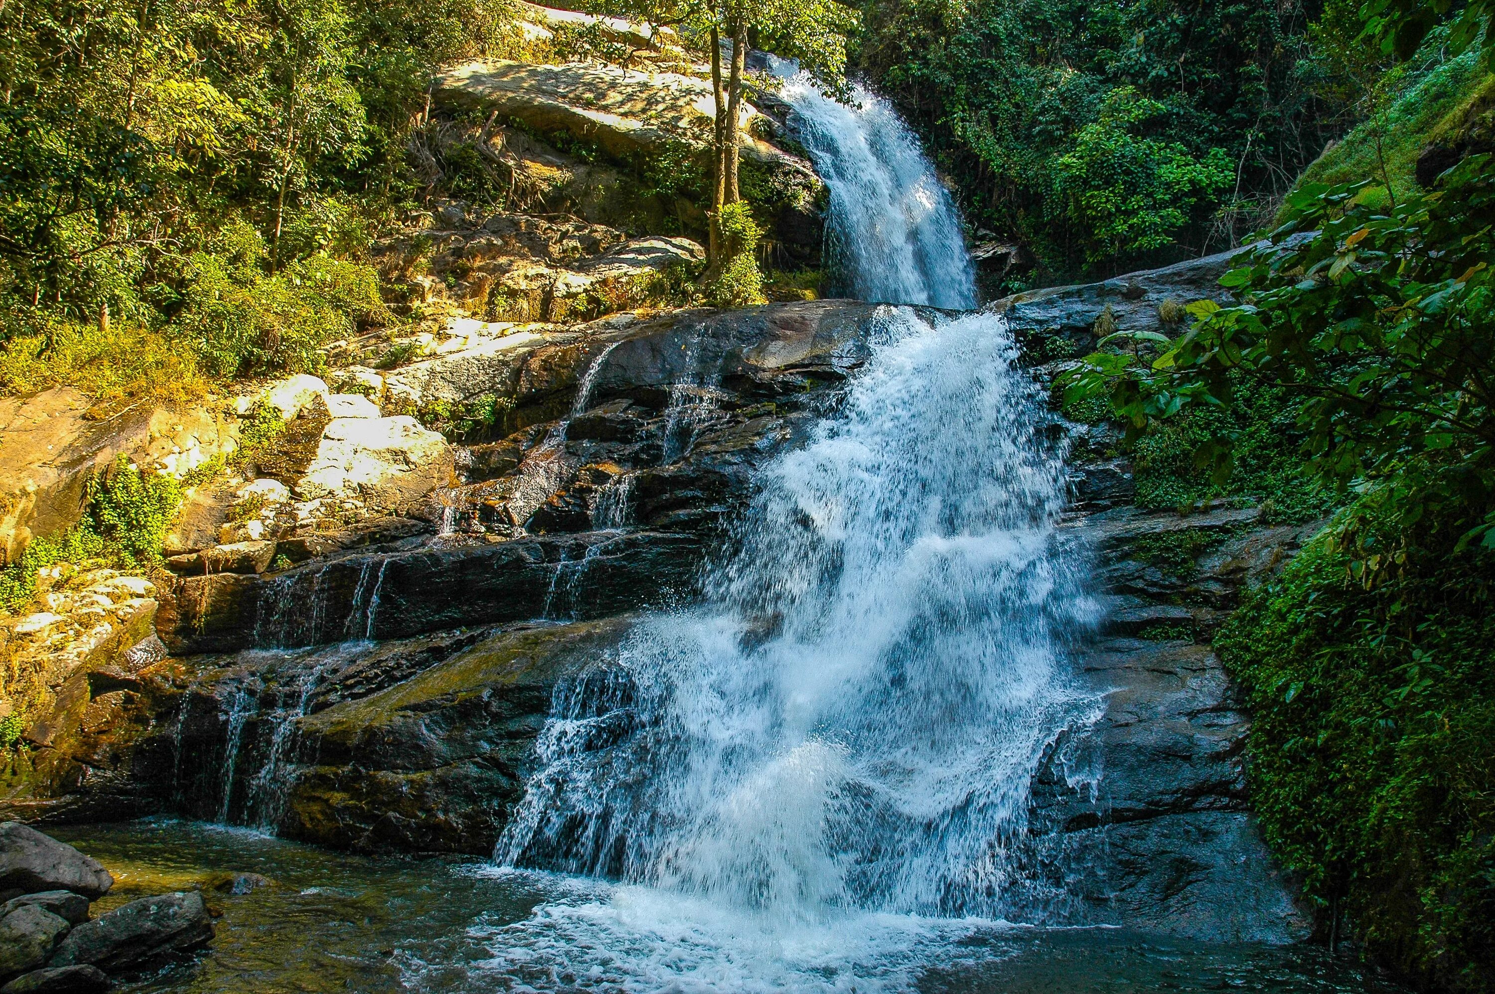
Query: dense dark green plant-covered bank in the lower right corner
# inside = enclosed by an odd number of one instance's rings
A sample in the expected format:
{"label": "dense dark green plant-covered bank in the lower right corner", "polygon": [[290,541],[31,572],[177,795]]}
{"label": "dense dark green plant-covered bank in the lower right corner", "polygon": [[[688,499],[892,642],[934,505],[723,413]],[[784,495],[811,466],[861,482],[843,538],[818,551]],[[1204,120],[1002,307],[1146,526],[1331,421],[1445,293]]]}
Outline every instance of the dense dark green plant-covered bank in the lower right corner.
{"label": "dense dark green plant-covered bank in the lower right corner", "polygon": [[[1408,540],[1395,516],[1375,531]],[[1346,537],[1325,534],[1214,644],[1251,707],[1253,806],[1307,895],[1402,976],[1488,993],[1495,564],[1456,544],[1420,532],[1368,589]]]}

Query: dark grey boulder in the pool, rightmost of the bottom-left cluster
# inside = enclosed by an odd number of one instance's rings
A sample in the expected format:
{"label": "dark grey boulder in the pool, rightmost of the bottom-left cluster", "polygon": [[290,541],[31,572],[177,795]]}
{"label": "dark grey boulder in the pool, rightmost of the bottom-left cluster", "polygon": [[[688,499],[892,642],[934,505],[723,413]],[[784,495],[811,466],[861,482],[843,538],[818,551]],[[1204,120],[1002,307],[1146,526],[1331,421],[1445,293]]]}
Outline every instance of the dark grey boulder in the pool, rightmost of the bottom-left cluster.
{"label": "dark grey boulder in the pool, rightmost of the bottom-left cluster", "polygon": [[199,949],[212,936],[212,916],[202,894],[145,897],[73,928],[52,954],[51,966],[127,970],[173,952]]}

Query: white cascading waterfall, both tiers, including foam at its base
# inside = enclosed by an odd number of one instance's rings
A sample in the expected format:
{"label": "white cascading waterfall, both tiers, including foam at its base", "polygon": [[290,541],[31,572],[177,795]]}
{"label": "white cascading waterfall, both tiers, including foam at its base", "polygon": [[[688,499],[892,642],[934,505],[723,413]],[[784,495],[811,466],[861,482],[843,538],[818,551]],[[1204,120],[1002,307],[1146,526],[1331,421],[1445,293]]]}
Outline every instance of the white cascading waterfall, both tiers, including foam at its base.
{"label": "white cascading waterfall, both tiers, including foam at its base", "polygon": [[[852,285],[970,306],[954,211],[891,111],[792,99]],[[925,940],[1023,916],[1029,782],[1097,714],[1064,665],[1096,608],[1055,529],[1063,451],[999,317],[884,318],[703,604],[558,689],[496,861],[623,883],[502,930],[513,981],[904,987]]]}

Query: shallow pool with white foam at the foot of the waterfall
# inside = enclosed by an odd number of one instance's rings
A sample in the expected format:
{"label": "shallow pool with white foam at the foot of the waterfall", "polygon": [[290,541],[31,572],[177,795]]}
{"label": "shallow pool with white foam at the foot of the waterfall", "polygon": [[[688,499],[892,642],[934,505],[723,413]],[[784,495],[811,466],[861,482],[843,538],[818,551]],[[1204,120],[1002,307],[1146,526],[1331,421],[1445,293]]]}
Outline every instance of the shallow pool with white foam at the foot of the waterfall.
{"label": "shallow pool with white foam at the foot of the waterfall", "polygon": [[[245,991],[919,991],[1393,994],[1317,946],[1117,928],[858,915],[752,921],[682,898],[472,858],[363,856],[175,819],[57,828],[117,877],[96,904],[202,888],[212,946],[124,994]],[[263,883],[248,888],[248,874]],[[235,892],[235,883],[239,891]]]}

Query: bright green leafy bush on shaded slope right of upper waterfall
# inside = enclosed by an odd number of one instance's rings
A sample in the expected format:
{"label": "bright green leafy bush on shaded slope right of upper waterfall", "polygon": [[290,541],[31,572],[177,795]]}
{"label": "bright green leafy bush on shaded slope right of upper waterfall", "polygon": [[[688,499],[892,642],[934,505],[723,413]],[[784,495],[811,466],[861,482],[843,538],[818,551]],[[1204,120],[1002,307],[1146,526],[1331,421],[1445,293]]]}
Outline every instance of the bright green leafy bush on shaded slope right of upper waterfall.
{"label": "bright green leafy bush on shaded slope right of upper waterfall", "polygon": [[1099,118],[1079,129],[1073,148],[1049,163],[1054,193],[1081,233],[1087,262],[1168,245],[1233,179],[1224,149],[1196,157],[1181,142],[1142,133],[1165,112],[1157,100],[1117,87]]}

